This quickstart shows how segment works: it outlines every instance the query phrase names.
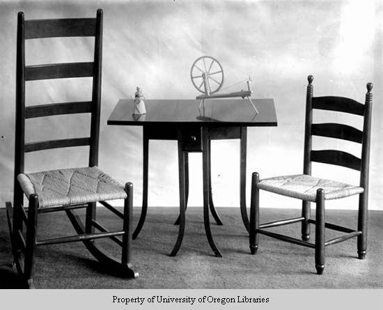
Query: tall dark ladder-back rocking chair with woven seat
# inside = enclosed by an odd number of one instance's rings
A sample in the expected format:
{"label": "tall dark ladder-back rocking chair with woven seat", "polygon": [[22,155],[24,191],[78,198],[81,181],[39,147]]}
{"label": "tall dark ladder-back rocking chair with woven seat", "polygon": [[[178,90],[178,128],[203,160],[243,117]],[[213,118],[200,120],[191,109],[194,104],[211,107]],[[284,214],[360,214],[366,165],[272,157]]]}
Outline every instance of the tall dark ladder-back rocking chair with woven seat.
{"label": "tall dark ladder-back rocking chair with woven seat", "polygon": [[[95,37],[94,61],[87,63],[56,63],[25,65],[25,40],[54,37]],[[16,131],[14,200],[6,203],[8,225],[12,242],[15,267],[33,288],[36,247],[58,243],[82,241],[86,248],[105,268],[118,272],[122,277],[137,277],[132,270],[132,183],[125,187],[97,168],[100,127],[102,61],[102,10],[96,18],[25,20],[24,13],[17,15],[17,74],[16,74]],[[25,83],[41,79],[92,77],[93,93],[90,102],[64,102],[25,107]],[[90,137],[28,142],[25,137],[26,118],[60,114],[90,114]],[[89,146],[87,167],[24,173],[24,154],[52,148]],[[29,206],[23,207],[23,195]],[[120,212],[107,200],[123,199]],[[118,231],[107,231],[96,221],[96,202],[123,219]],[[86,208],[85,225],[74,210]],[[77,235],[38,240],[38,215],[43,212],[65,211]],[[95,231],[97,229],[97,232]],[[109,256],[95,244],[95,239],[111,238],[122,248],[120,260]]]}

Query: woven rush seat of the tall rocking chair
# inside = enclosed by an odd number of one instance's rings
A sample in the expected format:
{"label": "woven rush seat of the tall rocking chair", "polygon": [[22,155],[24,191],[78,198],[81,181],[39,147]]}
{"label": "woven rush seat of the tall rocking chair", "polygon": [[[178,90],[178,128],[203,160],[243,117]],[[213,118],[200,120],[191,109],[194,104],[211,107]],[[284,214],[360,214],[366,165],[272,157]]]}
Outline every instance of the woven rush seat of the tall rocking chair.
{"label": "woven rush seat of the tall rocking chair", "polygon": [[24,194],[38,194],[40,208],[125,199],[123,185],[97,166],[20,173]]}

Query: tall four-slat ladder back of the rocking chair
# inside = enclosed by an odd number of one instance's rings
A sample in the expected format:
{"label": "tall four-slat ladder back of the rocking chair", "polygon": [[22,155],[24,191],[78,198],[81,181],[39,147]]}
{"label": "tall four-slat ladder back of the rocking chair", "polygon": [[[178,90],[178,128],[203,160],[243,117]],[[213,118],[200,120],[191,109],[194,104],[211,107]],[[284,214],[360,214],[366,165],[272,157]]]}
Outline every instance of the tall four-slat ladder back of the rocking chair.
{"label": "tall four-slat ladder back of the rocking chair", "polygon": [[[25,40],[35,38],[56,38],[93,36],[93,62],[52,63],[25,65]],[[102,59],[102,10],[97,10],[96,18],[61,20],[24,20],[24,13],[17,15],[17,56],[16,56],[16,124],[15,124],[15,192],[21,192],[17,175],[24,173],[24,153],[51,148],[89,146],[89,165],[97,166],[98,139],[100,131],[101,98],[101,59]],[[25,107],[25,84],[42,79],[72,77],[92,77],[92,98],[89,102],[62,102]],[[90,137],[58,139],[25,143],[26,118],[61,114],[91,114]],[[15,206],[17,201],[14,201]]]}

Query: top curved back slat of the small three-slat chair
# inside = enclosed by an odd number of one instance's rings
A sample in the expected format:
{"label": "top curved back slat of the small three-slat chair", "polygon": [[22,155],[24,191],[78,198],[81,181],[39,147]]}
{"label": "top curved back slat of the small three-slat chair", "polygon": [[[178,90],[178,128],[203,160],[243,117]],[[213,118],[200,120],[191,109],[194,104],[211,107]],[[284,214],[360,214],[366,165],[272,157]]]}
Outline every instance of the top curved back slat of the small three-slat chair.
{"label": "top curved back slat of the small three-slat chair", "polygon": [[344,97],[313,97],[313,109],[339,111],[350,114],[364,115],[364,104]]}

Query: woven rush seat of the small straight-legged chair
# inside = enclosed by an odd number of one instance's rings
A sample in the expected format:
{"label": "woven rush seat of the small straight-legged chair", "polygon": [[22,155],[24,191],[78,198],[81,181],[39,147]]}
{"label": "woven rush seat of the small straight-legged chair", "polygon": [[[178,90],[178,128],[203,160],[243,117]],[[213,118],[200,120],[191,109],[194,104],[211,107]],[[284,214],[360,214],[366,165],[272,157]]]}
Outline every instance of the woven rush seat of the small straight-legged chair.
{"label": "woven rush seat of the small straight-legged chair", "polygon": [[315,202],[317,190],[325,191],[325,199],[338,199],[364,192],[363,187],[333,180],[315,178],[306,174],[276,176],[260,180],[257,187],[268,192]]}

